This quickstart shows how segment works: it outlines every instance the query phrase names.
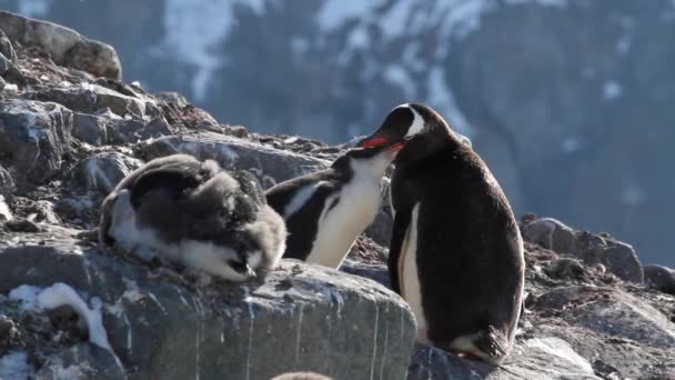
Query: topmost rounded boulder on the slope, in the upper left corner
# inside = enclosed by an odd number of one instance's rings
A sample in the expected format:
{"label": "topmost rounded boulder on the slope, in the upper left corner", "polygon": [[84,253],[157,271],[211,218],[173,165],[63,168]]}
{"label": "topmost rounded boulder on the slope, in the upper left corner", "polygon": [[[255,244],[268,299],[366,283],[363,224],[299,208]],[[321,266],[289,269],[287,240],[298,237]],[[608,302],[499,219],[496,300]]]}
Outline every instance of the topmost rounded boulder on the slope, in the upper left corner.
{"label": "topmost rounded boulder on the slope, in the upper left corner", "polygon": [[37,46],[57,64],[72,67],[97,77],[121,79],[122,67],[114,49],[87,39],[72,29],[0,11],[0,24],[10,40]]}

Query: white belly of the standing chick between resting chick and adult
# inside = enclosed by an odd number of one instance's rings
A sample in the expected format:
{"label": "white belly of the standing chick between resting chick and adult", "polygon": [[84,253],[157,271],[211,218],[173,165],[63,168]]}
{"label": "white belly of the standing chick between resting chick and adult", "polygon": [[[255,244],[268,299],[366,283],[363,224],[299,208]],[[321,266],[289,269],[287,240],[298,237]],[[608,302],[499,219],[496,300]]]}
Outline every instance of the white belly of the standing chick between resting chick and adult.
{"label": "white belly of the standing chick between resting chick and adult", "polygon": [[331,200],[325,202],[305,261],[338,269],[380,209],[380,182],[356,177],[333,197],[340,197],[340,201],[330,211]]}

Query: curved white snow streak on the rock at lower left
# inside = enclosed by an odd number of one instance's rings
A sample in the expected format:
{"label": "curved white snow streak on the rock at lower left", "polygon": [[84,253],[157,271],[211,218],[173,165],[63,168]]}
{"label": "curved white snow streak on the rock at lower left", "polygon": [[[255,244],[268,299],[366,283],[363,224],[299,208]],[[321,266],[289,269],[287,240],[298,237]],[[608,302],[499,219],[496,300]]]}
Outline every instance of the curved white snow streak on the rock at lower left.
{"label": "curved white snow streak on the rock at lower left", "polygon": [[110,351],[121,367],[121,362],[108,341],[108,333],[103,327],[101,316],[102,302],[98,297],[90,299],[90,309],[74,289],[66,283],[57,282],[44,290],[33,286],[22,284],[12,289],[9,293],[9,298],[21,301],[22,310],[56,309],[61,306],[70,306],[75,310],[80,318],[87,322],[89,341]]}

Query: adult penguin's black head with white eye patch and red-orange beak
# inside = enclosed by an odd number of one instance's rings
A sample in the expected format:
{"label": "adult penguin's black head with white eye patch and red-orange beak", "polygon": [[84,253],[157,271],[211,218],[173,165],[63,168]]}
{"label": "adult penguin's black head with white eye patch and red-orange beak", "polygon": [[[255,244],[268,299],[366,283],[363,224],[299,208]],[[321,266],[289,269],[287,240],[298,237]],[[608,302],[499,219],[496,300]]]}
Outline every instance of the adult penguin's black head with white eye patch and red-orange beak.
{"label": "adult penguin's black head with white eye patch and red-orange beak", "polygon": [[419,147],[424,151],[451,143],[467,144],[453,132],[447,122],[431,107],[405,103],[394,108],[373,134],[356,146],[365,148],[402,149]]}

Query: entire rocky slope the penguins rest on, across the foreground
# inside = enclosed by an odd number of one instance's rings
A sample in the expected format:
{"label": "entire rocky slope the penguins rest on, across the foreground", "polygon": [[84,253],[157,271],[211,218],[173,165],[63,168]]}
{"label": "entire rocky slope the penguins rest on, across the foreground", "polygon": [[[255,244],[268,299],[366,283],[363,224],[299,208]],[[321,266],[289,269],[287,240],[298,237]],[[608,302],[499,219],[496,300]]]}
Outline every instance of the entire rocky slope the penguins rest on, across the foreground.
{"label": "entire rocky slope the penguins rest on, across the foreground", "polygon": [[[500,368],[413,347],[412,316],[386,289],[386,210],[343,272],[284,260],[265,281],[231,284],[101,251],[102,197],[143,161],[185,152],[266,188],[344,147],[220,124],[178,93],[120,81],[109,46],[0,20],[0,378],[675,378],[673,270],[554,219],[522,219],[527,294]],[[26,289],[54,284],[79,307],[27,307]],[[83,328],[91,316],[108,346]]]}

